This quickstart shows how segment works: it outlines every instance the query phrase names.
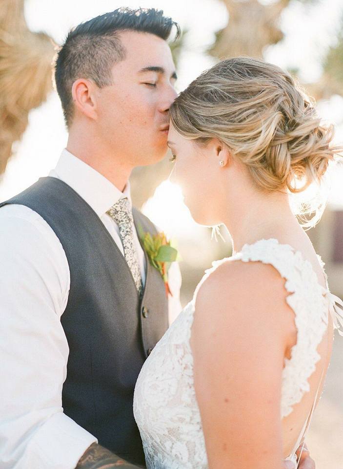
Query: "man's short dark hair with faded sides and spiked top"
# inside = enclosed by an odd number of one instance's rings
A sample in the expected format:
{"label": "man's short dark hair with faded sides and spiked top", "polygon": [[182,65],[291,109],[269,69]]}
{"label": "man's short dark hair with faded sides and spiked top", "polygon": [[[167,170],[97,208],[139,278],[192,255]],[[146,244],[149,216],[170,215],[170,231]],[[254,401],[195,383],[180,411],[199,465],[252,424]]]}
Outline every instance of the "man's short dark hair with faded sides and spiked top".
{"label": "man's short dark hair with faded sides and spiked top", "polygon": [[55,65],[55,83],[67,127],[74,113],[72,85],[78,78],[92,80],[100,88],[112,84],[111,69],[126,53],[118,32],[151,33],[166,41],[173,26],[177,39],[179,25],[163,16],[162,10],[118,8],[72,29],[58,52]]}

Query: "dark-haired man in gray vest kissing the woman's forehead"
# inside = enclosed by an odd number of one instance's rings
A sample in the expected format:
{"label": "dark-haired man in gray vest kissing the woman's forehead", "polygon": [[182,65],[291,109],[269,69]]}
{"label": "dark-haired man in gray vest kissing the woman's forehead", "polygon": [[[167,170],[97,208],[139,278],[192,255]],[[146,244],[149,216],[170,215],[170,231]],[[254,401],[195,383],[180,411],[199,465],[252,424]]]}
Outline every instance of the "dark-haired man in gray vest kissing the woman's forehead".
{"label": "dark-haired man in gray vest kissing the woman's forehead", "polygon": [[174,25],[120,9],[80,24],[58,54],[67,148],[0,204],[1,468],[145,464],[133,390],[168,303],[137,235],[156,228],[132,208],[128,179],[167,149]]}

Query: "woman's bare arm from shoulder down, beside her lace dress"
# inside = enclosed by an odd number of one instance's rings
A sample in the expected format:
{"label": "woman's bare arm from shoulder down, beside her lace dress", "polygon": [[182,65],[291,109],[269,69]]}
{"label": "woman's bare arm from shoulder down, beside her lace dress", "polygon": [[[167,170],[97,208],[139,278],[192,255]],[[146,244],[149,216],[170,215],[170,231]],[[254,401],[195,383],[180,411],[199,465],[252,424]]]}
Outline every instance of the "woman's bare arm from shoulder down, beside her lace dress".
{"label": "woman's bare arm from shoulder down, beside her lace dress", "polygon": [[191,345],[210,469],[283,469],[281,377],[295,327],[286,296],[260,262],[225,262],[198,291]]}

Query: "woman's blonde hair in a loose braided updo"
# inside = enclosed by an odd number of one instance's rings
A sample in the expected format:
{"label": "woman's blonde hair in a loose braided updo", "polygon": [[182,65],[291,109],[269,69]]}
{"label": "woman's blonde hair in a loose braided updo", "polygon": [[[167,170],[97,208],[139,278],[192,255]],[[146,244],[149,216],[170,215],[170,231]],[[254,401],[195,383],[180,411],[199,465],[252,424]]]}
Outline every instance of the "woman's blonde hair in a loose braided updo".
{"label": "woman's blonde hair in a loose braided updo", "polygon": [[[263,192],[303,192],[321,181],[341,150],[331,145],[333,127],[321,124],[291,75],[249,57],[223,60],[203,72],[177,97],[170,117],[187,139],[206,144],[217,137],[226,144]],[[323,200],[316,207],[304,202],[298,215],[313,226],[324,206]]]}

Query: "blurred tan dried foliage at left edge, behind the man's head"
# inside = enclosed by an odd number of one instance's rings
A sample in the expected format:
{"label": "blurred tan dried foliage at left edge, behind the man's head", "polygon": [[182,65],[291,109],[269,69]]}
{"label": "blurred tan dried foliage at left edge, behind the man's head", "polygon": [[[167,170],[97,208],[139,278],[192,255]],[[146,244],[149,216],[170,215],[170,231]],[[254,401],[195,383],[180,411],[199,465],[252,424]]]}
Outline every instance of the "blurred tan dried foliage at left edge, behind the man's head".
{"label": "blurred tan dried foliage at left edge, behind the man's head", "polygon": [[0,174],[28,123],[29,111],[52,89],[55,47],[45,33],[32,33],[24,0],[0,0]]}

